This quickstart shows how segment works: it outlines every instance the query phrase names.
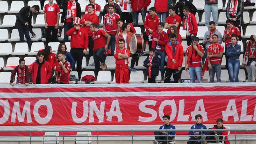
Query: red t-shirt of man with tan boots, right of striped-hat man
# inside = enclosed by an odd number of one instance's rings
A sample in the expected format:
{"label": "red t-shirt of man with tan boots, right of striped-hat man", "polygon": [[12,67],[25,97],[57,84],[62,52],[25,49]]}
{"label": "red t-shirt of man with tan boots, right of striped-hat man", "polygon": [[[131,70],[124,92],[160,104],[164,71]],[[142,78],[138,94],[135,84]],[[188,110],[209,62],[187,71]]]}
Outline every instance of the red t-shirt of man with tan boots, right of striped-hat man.
{"label": "red t-shirt of man with tan boots, right of striped-hat man", "polygon": [[94,41],[94,47],[93,51],[96,51],[97,49],[101,47],[105,47],[106,45],[106,39],[105,39],[105,34],[106,32],[100,29],[96,29],[96,31],[93,32],[92,37]]}

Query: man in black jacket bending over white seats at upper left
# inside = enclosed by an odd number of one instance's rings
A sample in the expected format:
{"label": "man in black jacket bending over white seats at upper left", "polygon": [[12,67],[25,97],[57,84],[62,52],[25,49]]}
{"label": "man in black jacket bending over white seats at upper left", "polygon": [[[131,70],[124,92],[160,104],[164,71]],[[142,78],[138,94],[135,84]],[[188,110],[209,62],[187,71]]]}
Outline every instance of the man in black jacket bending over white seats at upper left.
{"label": "man in black jacket bending over white seats at upper left", "polygon": [[31,49],[32,41],[29,33],[31,33],[32,36],[35,36],[35,33],[32,31],[32,25],[31,25],[32,13],[38,13],[38,12],[39,12],[38,5],[34,5],[32,7],[24,6],[23,8],[20,9],[15,22],[15,26],[19,31],[19,42],[24,42],[24,35],[25,35],[30,49]]}

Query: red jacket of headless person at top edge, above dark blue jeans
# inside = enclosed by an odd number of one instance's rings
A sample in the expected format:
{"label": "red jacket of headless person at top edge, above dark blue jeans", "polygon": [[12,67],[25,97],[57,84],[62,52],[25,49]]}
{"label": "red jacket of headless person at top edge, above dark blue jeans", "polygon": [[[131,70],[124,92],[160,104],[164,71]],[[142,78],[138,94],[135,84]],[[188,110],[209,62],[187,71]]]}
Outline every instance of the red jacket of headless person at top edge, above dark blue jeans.
{"label": "red jacket of headless person at top edge, above dark blue jeans", "polygon": [[131,0],[131,9],[135,12],[140,11],[142,8],[147,10],[147,6],[149,6],[151,0]]}

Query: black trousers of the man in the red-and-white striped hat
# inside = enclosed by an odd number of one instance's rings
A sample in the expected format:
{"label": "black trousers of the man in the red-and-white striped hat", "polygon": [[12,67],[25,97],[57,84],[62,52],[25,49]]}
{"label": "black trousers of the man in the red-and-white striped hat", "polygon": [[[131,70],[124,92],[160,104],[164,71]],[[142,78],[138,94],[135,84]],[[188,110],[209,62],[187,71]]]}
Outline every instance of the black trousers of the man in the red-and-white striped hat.
{"label": "black trousers of the man in the red-and-white striped hat", "polygon": [[83,60],[83,49],[84,48],[71,48],[70,54],[73,57],[75,63],[77,62],[77,73],[78,73],[78,80],[81,79],[82,73],[82,60]]}

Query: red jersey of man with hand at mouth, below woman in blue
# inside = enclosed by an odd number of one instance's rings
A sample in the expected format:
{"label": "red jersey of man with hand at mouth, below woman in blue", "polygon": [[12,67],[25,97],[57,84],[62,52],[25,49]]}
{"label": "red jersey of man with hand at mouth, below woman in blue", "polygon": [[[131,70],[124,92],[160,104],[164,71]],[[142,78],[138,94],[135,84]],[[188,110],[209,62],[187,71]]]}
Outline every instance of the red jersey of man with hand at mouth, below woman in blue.
{"label": "red jersey of man with hand at mouth, below woman in blue", "polygon": [[63,71],[61,65],[59,63],[57,63],[56,69],[55,69],[55,74],[56,74],[57,78],[60,79],[60,82],[68,84],[69,83],[69,73],[70,73],[71,64],[70,64],[70,62],[65,61],[63,63],[63,65],[67,69],[67,73],[65,73]]}

